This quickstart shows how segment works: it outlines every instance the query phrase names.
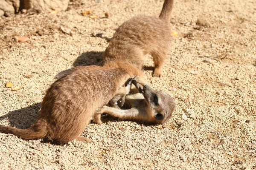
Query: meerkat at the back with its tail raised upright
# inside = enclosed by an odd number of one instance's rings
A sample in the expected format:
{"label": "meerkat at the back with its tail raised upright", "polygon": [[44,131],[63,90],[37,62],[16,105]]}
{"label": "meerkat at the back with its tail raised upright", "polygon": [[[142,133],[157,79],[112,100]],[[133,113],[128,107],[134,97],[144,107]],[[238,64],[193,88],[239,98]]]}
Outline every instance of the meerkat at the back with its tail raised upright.
{"label": "meerkat at the back with its tail raised upright", "polygon": [[162,76],[171,41],[170,20],[173,0],[164,0],[159,17],[136,16],[117,28],[103,55],[103,61],[128,59],[139,68],[144,55],[151,54],[154,61],[154,77]]}

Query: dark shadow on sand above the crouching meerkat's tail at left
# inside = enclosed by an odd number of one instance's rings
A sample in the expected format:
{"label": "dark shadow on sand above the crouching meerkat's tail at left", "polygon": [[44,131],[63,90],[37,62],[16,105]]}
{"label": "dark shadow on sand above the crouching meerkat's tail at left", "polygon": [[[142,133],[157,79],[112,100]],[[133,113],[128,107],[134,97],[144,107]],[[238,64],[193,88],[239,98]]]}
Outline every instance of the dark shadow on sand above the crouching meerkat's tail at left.
{"label": "dark shadow on sand above the crouching meerkat's tail at left", "polygon": [[39,118],[41,102],[26,108],[17,109],[10,113],[0,116],[0,120],[8,119],[10,126],[19,129],[27,129]]}

